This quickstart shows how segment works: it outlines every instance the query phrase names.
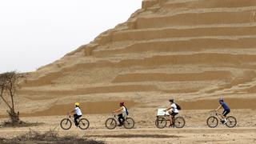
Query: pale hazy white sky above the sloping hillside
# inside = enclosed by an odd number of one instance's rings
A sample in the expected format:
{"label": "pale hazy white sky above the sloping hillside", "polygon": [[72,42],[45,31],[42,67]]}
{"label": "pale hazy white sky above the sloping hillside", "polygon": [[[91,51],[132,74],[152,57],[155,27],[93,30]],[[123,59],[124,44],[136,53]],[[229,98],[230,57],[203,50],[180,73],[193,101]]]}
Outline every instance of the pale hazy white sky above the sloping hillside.
{"label": "pale hazy white sky above the sloping hillside", "polygon": [[36,70],[126,22],[142,0],[0,0],[0,73]]}

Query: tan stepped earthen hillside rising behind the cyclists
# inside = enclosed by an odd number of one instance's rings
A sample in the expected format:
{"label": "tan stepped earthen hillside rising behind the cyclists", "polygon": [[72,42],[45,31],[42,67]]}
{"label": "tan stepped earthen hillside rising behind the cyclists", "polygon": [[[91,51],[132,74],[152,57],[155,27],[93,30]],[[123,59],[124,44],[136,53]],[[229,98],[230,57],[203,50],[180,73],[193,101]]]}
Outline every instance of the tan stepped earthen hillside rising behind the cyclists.
{"label": "tan stepped earthen hillside rising behind the cyclists", "polygon": [[234,109],[254,109],[255,21],[254,0],[144,0],[127,22],[26,74],[18,110],[63,115],[83,102],[101,107],[87,108],[99,114],[120,101],[155,110],[169,98],[186,110],[210,110],[219,97]]}

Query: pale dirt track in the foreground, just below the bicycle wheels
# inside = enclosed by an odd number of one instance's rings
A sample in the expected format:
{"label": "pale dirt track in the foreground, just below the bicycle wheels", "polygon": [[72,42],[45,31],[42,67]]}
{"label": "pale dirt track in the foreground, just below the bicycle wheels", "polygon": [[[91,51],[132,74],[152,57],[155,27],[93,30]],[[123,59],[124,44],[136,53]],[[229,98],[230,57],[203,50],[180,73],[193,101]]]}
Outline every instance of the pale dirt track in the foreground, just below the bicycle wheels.
{"label": "pale dirt track in the foreground, just below the bicycle wheels", "polygon": [[[33,130],[33,128],[32,128]],[[24,134],[29,129],[4,129],[1,135]],[[41,132],[47,129],[39,130]],[[254,143],[256,128],[184,128],[184,129],[134,129],[134,130],[59,130],[60,135],[78,135],[82,138],[94,138],[107,143]]]}

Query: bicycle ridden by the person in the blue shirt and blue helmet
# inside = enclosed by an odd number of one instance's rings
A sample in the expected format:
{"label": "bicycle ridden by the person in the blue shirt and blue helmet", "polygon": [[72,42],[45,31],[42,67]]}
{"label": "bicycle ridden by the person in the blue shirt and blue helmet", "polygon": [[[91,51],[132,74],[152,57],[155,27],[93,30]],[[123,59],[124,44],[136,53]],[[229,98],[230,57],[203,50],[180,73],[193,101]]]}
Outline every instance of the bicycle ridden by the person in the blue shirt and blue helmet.
{"label": "bicycle ridden by the person in the blue shirt and blue helmet", "polygon": [[[222,124],[224,125],[223,123],[223,119],[222,119],[222,114],[219,114],[217,111],[215,110],[212,110],[210,111],[210,113],[214,112],[214,114],[212,114],[209,118],[207,118],[206,120],[206,123],[207,123],[207,126],[209,126],[210,128],[214,128],[216,126],[218,126],[218,121],[220,120],[222,122]],[[237,125],[237,119],[234,118],[233,116],[228,116],[226,117],[226,123],[225,125],[227,127],[234,127]]]}

